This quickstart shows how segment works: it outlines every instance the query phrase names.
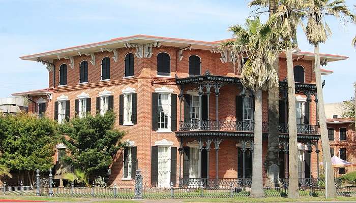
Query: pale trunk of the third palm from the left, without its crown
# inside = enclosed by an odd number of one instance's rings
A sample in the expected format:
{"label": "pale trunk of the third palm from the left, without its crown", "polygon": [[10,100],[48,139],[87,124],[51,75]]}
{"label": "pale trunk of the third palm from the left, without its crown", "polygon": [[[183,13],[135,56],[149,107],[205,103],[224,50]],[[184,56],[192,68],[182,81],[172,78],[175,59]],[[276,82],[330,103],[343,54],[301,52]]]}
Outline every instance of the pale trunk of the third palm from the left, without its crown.
{"label": "pale trunk of the third palm from the left, without its crown", "polygon": [[299,198],[298,146],[295,117],[295,84],[292,50],[286,51],[288,82],[289,183],[288,198]]}

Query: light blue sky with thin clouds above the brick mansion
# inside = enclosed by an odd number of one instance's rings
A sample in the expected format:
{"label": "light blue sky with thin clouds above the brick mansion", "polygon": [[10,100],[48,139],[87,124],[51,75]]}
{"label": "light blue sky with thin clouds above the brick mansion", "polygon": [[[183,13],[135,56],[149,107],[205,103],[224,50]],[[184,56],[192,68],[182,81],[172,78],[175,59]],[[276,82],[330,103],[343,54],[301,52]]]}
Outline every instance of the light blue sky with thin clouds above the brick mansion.
{"label": "light blue sky with thin clouds above the brick mansion", "polygon": [[[351,7],[354,0],[346,2]],[[228,26],[242,24],[250,15],[247,3],[244,0],[0,0],[0,97],[48,87],[45,67],[20,60],[22,55],[137,34],[203,41],[226,39],[231,37]],[[328,20],[333,36],[320,46],[320,51],[349,56],[326,67],[334,71],[324,77],[324,99],[330,103],[353,94],[356,52],[350,44],[356,26],[344,28],[340,22]],[[301,30],[298,41],[303,51],[313,51]]]}

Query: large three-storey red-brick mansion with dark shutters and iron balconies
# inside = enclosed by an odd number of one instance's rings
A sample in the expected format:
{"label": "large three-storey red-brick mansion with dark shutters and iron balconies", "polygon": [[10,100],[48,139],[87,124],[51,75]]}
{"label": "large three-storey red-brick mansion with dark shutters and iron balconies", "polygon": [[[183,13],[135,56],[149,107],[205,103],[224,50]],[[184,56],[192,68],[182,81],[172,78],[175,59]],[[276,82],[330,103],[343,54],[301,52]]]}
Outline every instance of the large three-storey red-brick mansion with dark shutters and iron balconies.
{"label": "large three-storey red-brick mansion with dark shutters and iron balconies", "polygon": [[[137,35],[23,56],[23,60],[47,65],[50,88],[13,95],[28,96],[36,102],[30,103],[30,110],[44,111],[58,122],[113,110],[118,115],[115,127],[127,132],[127,146],[114,157],[109,184],[132,187],[137,168],[147,186],[194,184],[199,183],[198,178],[221,182],[231,178],[248,184],[253,164],[254,96],[243,88],[229,51],[218,49],[221,42]],[[299,176],[316,178],[315,146],[320,136],[314,54],[300,51],[293,58]],[[321,59],[331,62],[347,57],[321,54]],[[288,104],[285,56],[279,60],[283,178],[288,175]],[[331,73],[322,70],[323,75]],[[264,91],[263,159],[267,98]],[[41,111],[40,104],[44,104]]]}

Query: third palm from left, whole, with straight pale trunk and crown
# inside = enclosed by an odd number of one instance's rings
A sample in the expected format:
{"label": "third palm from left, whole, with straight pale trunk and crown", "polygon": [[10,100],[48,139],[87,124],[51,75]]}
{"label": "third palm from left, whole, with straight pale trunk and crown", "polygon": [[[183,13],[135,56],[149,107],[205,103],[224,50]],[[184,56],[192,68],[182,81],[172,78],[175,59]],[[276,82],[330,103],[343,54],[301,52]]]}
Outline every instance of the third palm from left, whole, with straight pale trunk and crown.
{"label": "third palm from left, whole, with straight pale trunk and crown", "polygon": [[[293,48],[298,48],[296,44],[296,28],[301,23],[305,12],[306,0],[279,0],[276,11],[270,16],[270,22],[275,24],[275,29],[282,30],[284,41],[293,41]],[[298,139],[295,118],[295,84],[293,72],[292,48],[286,49],[287,59],[287,82],[288,82],[288,135],[289,135],[289,183],[288,197],[299,197],[298,181]]]}

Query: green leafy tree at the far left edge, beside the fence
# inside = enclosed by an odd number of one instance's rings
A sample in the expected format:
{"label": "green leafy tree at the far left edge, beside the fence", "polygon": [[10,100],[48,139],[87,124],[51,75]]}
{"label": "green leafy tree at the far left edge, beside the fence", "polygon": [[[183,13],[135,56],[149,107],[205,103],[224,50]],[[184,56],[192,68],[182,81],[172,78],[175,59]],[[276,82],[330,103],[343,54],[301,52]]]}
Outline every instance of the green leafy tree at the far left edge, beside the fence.
{"label": "green leafy tree at the far left edge, beside the fence", "polygon": [[55,145],[59,140],[58,125],[47,118],[21,113],[0,117],[0,164],[28,176],[34,184],[34,172],[48,172],[53,167]]}

